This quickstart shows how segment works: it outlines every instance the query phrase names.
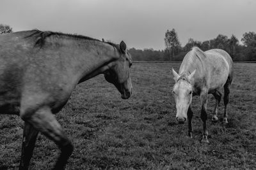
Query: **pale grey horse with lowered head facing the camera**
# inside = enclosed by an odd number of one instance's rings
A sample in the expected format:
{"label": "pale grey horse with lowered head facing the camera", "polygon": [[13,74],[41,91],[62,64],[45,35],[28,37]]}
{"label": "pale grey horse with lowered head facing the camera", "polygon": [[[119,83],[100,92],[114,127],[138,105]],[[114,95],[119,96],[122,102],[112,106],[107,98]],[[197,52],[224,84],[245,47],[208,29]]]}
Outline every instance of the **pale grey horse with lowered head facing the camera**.
{"label": "pale grey horse with lowered head facing the camera", "polygon": [[200,96],[201,101],[201,119],[203,121],[203,139],[202,142],[209,143],[207,136],[207,99],[208,94],[213,94],[216,99],[212,121],[217,121],[218,106],[221,100],[220,89],[224,87],[224,117],[223,123],[227,124],[227,104],[229,86],[233,78],[233,62],[227,52],[220,49],[212,49],[203,52],[198,47],[186,54],[180,65],[179,74],[172,69],[175,85],[173,94],[176,103],[176,120],[183,124],[188,119],[188,136],[192,138],[191,120],[193,112],[191,110],[191,101],[193,96]]}

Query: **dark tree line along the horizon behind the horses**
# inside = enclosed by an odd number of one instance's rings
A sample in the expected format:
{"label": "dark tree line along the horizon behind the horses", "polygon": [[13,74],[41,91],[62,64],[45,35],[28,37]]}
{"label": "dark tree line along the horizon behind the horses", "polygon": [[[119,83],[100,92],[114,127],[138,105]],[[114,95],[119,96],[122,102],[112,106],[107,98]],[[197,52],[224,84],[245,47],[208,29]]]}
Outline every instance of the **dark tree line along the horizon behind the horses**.
{"label": "dark tree line along the horizon behind the horses", "polygon": [[[0,24],[0,34],[11,32],[13,32],[12,27]],[[239,40],[233,34],[230,38],[219,34],[216,38],[206,41],[196,41],[189,38],[188,43],[181,46],[177,32],[172,29],[167,30],[164,34],[164,50],[130,48],[128,51],[131,53],[132,59],[138,61],[181,61],[193,46],[198,46],[204,51],[212,48],[223,49],[230,54],[234,61],[256,61],[256,33],[245,32],[241,42],[243,42],[243,45],[239,44]]]}

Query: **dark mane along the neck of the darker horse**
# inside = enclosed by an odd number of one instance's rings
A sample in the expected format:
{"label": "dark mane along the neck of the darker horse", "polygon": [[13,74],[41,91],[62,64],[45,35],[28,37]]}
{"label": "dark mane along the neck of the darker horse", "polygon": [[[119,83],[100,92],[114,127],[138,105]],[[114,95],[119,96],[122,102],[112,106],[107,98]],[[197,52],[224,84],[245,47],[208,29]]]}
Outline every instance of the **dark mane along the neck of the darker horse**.
{"label": "dark mane along the neck of the darker horse", "polygon": [[65,36],[65,37],[68,37],[68,38],[87,39],[87,40],[107,43],[111,46],[114,46],[118,50],[118,52],[120,52],[119,45],[116,45],[115,43],[111,43],[111,42],[100,41],[99,39],[90,38],[88,36],[81,36],[81,35],[77,35],[77,34],[65,34],[65,33],[62,33],[62,32],[40,31],[38,29],[32,30],[32,32],[33,32],[32,34],[30,34],[29,36],[26,36],[25,38],[35,36],[36,37],[35,46],[40,46],[40,47],[44,46],[46,38],[49,38],[51,36]]}

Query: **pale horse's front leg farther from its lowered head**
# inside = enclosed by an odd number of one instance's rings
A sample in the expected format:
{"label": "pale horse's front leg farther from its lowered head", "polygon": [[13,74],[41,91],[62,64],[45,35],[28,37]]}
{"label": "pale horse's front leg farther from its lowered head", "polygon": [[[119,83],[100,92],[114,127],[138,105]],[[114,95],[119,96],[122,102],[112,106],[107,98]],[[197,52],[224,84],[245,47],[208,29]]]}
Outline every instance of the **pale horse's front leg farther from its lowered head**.
{"label": "pale horse's front leg farther from its lowered head", "polygon": [[208,93],[207,92],[202,92],[200,94],[200,100],[201,100],[201,106],[202,106],[202,110],[201,110],[201,119],[203,121],[203,139],[202,142],[205,143],[209,143],[208,141],[208,132],[207,132],[207,127],[206,127],[206,121],[207,121],[207,113],[206,113],[206,108],[207,108],[207,99],[208,99]]}

